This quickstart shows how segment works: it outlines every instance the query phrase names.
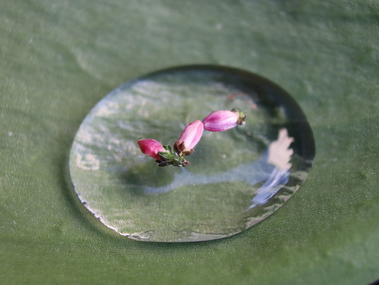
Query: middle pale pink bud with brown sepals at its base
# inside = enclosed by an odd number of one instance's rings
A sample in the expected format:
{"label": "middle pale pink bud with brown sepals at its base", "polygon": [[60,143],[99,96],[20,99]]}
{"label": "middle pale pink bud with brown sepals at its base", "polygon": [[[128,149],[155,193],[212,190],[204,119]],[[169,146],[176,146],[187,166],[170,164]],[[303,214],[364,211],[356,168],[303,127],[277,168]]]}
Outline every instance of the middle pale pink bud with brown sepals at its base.
{"label": "middle pale pink bud with brown sepals at its base", "polygon": [[199,142],[204,131],[204,124],[200,120],[193,121],[188,124],[177,142],[174,143],[174,148],[178,153],[189,155],[194,152],[193,148]]}

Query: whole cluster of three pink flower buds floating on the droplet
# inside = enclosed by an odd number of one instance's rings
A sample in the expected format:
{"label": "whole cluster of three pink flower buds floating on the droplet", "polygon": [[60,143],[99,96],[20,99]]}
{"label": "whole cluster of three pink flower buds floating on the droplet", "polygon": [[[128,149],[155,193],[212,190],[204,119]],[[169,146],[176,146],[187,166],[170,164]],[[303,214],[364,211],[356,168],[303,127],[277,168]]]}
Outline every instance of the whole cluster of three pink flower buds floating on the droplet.
{"label": "whole cluster of three pink flower buds floating on the droplet", "polygon": [[234,128],[239,124],[244,124],[246,113],[240,109],[234,108],[229,110],[220,110],[210,113],[204,120],[196,120],[189,123],[179,140],[174,142],[174,145],[162,145],[153,139],[139,140],[137,143],[141,151],[155,158],[158,166],[183,166],[189,164],[183,156],[192,154],[195,146],[200,141],[204,130],[211,132],[223,132]]}

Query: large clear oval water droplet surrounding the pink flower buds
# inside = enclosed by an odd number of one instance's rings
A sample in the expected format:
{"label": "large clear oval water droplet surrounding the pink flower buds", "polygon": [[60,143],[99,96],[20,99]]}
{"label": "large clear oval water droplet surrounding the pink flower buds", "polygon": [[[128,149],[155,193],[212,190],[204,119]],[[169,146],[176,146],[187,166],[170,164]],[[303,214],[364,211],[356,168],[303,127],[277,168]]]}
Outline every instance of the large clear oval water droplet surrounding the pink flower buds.
{"label": "large clear oval water droplet surrounding the pink flower buds", "polygon": [[[139,139],[173,143],[186,124],[239,108],[246,125],[203,135],[186,168],[157,167]],[[143,241],[238,233],[296,192],[315,155],[296,102],[255,74],[216,66],[158,71],[113,90],[81,124],[70,154],[80,200],[108,227]]]}

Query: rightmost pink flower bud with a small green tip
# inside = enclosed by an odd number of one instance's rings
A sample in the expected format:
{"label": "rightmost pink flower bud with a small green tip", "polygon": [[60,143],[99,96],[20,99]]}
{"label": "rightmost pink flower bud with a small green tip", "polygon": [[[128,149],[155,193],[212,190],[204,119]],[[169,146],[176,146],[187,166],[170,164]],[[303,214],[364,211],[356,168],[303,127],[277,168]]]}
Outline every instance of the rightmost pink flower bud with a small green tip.
{"label": "rightmost pink flower bud with a small green tip", "polygon": [[244,123],[246,113],[234,108],[232,111],[220,110],[204,118],[204,129],[211,132],[222,132]]}

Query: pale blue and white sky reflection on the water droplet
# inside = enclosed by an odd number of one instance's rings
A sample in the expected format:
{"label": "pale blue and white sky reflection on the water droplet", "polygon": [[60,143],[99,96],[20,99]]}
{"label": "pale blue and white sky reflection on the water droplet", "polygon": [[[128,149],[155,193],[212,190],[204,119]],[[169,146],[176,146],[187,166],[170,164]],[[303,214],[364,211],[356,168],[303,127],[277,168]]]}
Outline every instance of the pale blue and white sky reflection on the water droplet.
{"label": "pale blue and white sky reflection on the water droplet", "polygon": [[213,175],[194,174],[182,168],[182,173],[175,173],[174,180],[170,184],[161,187],[146,186],[144,193],[163,193],[180,186],[196,184],[243,181],[254,185],[264,182],[251,200],[251,206],[246,210],[251,209],[266,203],[288,182],[291,168],[289,162],[293,154],[289,146],[292,142],[293,137],[288,137],[287,129],[280,129],[278,139],[270,143],[268,150],[254,162],[240,164],[231,170]]}

